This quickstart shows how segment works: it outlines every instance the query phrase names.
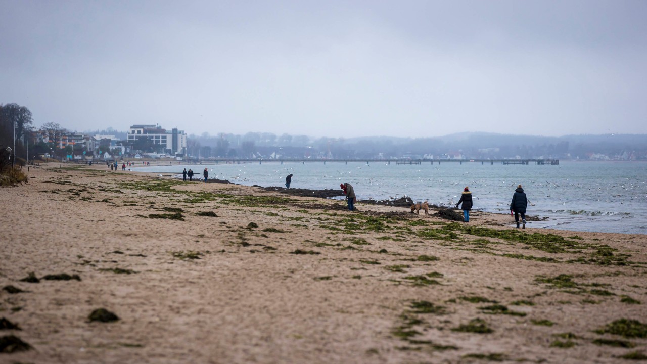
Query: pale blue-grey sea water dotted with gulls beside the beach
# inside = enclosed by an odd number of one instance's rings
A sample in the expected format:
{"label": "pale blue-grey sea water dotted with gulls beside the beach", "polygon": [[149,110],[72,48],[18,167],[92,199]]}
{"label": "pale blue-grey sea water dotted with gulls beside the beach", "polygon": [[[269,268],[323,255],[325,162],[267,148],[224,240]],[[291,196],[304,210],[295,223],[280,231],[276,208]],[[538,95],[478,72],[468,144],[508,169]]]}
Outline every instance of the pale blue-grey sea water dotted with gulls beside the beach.
{"label": "pale blue-grey sea water dotted with gulls beside the beach", "polygon": [[[292,188],[339,188],[342,182],[355,187],[358,199],[389,199],[409,196],[450,206],[465,186],[474,196],[474,209],[509,214],[517,185],[523,185],[530,216],[549,220],[531,227],[647,234],[646,162],[574,162],[549,165],[481,165],[481,163],[434,162],[422,165],[387,165],[371,162],[263,162],[249,164],[173,165],[131,168],[141,172],[177,173],[192,168],[195,177],[228,179],[239,185]],[[181,177],[181,175],[179,175]],[[510,218],[510,226],[514,219]]]}

